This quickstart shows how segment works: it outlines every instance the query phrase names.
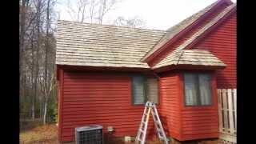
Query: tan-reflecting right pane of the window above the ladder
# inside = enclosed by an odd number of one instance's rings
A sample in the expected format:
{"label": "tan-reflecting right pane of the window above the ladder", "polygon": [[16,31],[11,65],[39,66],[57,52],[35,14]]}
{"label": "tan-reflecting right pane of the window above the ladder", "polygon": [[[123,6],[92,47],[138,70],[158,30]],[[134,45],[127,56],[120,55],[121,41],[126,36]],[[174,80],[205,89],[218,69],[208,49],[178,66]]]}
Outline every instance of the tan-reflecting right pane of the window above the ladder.
{"label": "tan-reflecting right pane of the window above the ladder", "polygon": [[150,102],[158,103],[158,79],[147,79],[147,98]]}

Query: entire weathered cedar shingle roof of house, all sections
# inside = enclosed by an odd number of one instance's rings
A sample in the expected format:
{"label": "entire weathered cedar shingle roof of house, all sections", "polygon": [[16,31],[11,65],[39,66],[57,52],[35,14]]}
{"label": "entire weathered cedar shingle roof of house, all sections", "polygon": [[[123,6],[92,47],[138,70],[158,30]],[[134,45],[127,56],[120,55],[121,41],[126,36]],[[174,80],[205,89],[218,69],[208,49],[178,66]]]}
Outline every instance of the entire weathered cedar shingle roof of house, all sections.
{"label": "entire weathered cedar shingle roof of house, all sections", "polygon": [[[56,64],[150,68],[146,62],[140,61],[145,54],[154,52],[156,47],[169,41],[175,34],[178,34],[186,26],[201,17],[202,14],[205,14],[206,11],[213,8],[216,3],[207,6],[204,10],[173,26],[168,31],[58,21]],[[151,68],[158,69],[163,66],[178,64],[225,66],[209,51],[184,49],[204,34],[206,30],[209,30],[211,26],[214,26],[230,10],[233,10],[234,6],[236,4],[227,6],[190,38],[182,42],[174,52],[168,54],[166,58],[163,58]],[[152,47],[154,48],[151,49]]]}

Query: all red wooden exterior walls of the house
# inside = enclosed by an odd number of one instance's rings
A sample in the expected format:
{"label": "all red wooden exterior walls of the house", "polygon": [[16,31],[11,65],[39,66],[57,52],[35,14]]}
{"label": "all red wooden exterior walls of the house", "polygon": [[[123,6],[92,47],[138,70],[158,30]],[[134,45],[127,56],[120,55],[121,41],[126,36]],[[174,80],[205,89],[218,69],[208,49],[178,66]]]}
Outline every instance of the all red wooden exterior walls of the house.
{"label": "all red wooden exterior walls of the house", "polygon": [[[220,6],[219,10],[224,7]],[[162,51],[158,58],[149,62],[150,66],[165,58],[212,16]],[[236,14],[193,46],[210,50],[227,65],[226,69],[214,74],[213,106],[185,107],[182,74],[175,71],[159,74],[159,114],[167,136],[181,141],[218,137],[216,88],[236,88],[236,46]],[[134,106],[131,102],[129,74],[71,73],[60,69],[58,89],[61,142],[74,141],[74,127],[88,124],[102,125],[103,132],[107,126],[114,126],[116,137],[136,136],[144,106]],[[154,133],[152,118],[148,131]]]}

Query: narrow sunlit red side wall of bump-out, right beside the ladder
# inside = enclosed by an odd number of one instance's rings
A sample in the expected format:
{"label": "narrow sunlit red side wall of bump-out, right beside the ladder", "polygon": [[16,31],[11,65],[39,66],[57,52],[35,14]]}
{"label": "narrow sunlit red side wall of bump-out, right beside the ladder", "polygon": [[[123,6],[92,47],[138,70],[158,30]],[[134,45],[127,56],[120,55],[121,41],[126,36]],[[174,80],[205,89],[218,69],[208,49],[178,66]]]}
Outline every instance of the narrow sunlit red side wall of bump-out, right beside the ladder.
{"label": "narrow sunlit red side wall of bump-out, right beside the ladder", "polygon": [[181,115],[178,89],[178,74],[161,74],[160,118],[166,135],[181,138]]}

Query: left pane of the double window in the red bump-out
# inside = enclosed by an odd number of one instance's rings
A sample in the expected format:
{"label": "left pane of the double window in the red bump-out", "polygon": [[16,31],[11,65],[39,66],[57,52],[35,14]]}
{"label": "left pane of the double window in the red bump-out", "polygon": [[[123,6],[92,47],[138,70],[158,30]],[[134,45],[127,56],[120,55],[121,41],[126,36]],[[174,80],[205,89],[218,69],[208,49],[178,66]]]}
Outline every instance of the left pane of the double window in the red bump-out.
{"label": "left pane of the double window in the red bump-out", "polygon": [[184,74],[185,82],[185,102],[187,106],[197,106],[198,102],[198,82],[196,74]]}

